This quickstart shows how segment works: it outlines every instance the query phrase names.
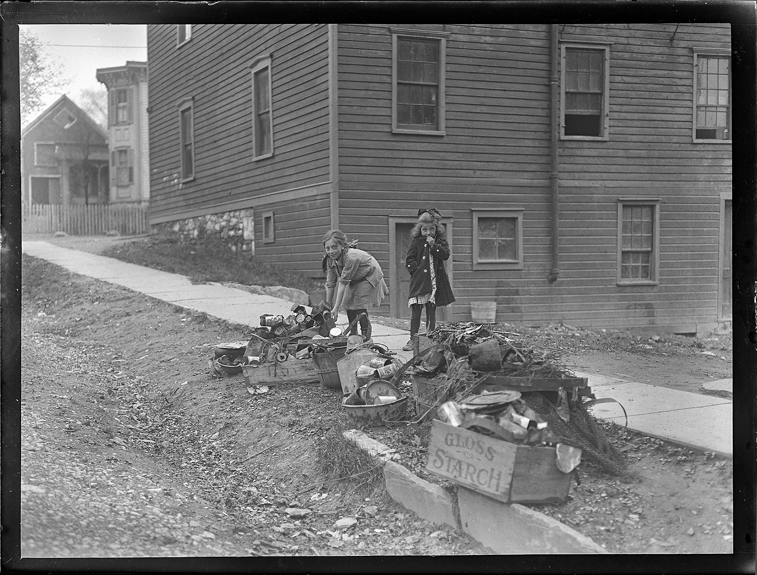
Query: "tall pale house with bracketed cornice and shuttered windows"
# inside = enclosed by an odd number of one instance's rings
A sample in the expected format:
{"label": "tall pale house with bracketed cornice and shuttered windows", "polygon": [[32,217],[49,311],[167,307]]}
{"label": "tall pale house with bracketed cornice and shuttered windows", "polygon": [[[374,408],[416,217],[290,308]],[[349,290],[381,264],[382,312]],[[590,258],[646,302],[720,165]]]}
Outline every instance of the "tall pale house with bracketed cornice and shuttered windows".
{"label": "tall pale house with bracketed cornice and shuttered windows", "polygon": [[111,153],[111,203],[150,201],[147,62],[100,68],[107,88]]}

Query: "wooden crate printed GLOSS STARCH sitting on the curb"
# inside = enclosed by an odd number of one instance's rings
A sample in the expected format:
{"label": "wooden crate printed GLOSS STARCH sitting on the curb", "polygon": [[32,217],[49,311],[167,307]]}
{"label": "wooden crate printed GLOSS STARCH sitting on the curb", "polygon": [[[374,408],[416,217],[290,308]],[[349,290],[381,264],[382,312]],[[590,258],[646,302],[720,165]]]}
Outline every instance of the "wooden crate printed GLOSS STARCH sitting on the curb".
{"label": "wooden crate printed GLOSS STARCH sitting on the curb", "polygon": [[511,444],[435,419],[426,469],[506,503],[564,502],[570,474],[556,460],[554,447]]}

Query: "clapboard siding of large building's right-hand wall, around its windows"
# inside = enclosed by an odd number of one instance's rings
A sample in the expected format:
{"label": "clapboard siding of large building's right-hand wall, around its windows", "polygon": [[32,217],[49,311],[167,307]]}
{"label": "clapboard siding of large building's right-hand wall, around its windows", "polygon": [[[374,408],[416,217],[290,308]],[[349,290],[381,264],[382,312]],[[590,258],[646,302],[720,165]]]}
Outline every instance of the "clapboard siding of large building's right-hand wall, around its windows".
{"label": "clapboard siding of large building's right-hand wall, around its windows", "polygon": [[[454,218],[456,320],[691,326],[717,319],[719,193],[731,144],[693,144],[692,48],[727,25],[559,26],[611,42],[609,141],[559,141],[559,279],[551,267],[549,26],[447,25],[446,135],[391,132],[389,25],[338,26],[340,221],[384,267],[388,216]],[[410,26],[397,26],[410,27]],[[413,26],[422,28],[426,26]],[[439,30],[442,26],[427,26]],[[659,199],[659,285],[617,285],[618,199]],[[472,270],[472,209],[523,208],[523,270]]]}

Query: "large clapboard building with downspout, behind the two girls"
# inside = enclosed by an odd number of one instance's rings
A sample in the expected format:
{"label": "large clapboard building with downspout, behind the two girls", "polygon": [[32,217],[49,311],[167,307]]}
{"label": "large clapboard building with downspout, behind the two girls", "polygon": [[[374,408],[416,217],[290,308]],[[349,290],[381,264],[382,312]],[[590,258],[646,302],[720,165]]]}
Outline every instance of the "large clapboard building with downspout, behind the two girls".
{"label": "large clapboard building with downspout, behind the two girls", "polygon": [[[497,320],[731,320],[727,24],[148,25],[151,224],[321,277],[339,227],[407,317],[441,210]],[[251,225],[254,221],[254,226]]]}

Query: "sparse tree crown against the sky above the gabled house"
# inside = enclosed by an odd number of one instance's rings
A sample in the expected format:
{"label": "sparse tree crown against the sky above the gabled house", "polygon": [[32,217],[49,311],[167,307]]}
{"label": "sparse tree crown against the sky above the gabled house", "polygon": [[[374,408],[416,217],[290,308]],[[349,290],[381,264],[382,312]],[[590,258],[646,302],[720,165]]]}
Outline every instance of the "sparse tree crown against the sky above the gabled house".
{"label": "sparse tree crown against the sky above the gabled house", "polygon": [[21,123],[42,111],[45,96],[60,91],[65,82],[61,70],[45,54],[42,42],[23,26],[18,32]]}

